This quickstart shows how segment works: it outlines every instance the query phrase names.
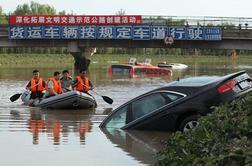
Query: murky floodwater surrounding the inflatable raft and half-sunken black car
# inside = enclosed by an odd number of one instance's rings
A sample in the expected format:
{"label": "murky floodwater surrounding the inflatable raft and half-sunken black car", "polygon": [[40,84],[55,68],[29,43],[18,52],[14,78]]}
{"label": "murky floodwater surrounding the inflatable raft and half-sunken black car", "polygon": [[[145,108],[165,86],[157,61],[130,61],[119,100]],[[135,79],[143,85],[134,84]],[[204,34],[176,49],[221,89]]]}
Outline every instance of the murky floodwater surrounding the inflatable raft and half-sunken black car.
{"label": "murky floodwater surrounding the inflatable raft and half-sunken black car", "polygon": [[[95,91],[111,97],[114,103],[109,105],[91,92],[98,103],[96,109],[63,111],[29,108],[20,99],[10,102],[10,96],[24,91],[33,69],[1,68],[1,165],[154,165],[156,153],[164,147],[169,132],[101,130],[98,126],[119,105],[178,77],[225,75],[240,70],[252,75],[252,66],[248,64],[188,65],[185,71],[174,71],[172,77],[111,78],[107,66],[92,64],[89,76]],[[46,78],[62,69],[39,70]]]}

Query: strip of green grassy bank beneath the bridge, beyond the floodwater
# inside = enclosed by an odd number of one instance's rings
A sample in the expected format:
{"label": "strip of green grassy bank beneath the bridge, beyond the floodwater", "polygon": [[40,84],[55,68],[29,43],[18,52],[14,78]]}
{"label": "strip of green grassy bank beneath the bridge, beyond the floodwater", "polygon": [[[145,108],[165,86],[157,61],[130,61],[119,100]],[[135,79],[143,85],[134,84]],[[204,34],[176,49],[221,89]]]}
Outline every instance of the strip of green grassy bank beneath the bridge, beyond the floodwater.
{"label": "strip of green grassy bank beneath the bridge, beyond the floodwater", "polygon": [[[232,63],[233,60],[227,56],[172,56],[172,55],[112,55],[95,54],[91,57],[92,66],[108,65],[118,61],[127,63],[130,57],[137,58],[138,62],[144,62],[146,58],[152,59],[152,64],[158,62],[178,62],[185,64],[197,63]],[[238,64],[252,64],[252,56],[238,56],[235,61]],[[72,67],[74,59],[70,54],[0,54],[0,67]],[[98,64],[98,65],[96,65]]]}

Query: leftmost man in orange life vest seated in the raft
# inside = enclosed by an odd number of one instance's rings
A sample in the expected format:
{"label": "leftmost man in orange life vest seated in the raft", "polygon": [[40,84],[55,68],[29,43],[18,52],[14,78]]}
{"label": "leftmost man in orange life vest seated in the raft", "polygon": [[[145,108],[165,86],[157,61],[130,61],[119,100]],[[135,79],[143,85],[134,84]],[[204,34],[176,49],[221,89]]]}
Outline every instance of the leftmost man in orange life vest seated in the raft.
{"label": "leftmost man in orange life vest seated in the raft", "polygon": [[32,79],[26,86],[26,89],[31,91],[30,99],[42,98],[46,83],[42,78],[39,77],[38,70],[33,70],[32,75]]}

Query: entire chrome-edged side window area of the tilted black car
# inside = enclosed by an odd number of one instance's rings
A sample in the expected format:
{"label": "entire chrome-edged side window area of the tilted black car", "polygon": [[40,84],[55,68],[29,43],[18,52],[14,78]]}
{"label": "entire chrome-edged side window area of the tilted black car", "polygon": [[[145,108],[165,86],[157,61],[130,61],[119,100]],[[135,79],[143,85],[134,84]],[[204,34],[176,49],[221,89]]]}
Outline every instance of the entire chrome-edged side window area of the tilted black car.
{"label": "entire chrome-edged side window area of the tilted black car", "polygon": [[168,91],[158,91],[141,96],[116,109],[103,121],[100,127],[124,129],[129,123],[134,123],[134,121],[158,111],[160,108],[183,96],[182,94]]}

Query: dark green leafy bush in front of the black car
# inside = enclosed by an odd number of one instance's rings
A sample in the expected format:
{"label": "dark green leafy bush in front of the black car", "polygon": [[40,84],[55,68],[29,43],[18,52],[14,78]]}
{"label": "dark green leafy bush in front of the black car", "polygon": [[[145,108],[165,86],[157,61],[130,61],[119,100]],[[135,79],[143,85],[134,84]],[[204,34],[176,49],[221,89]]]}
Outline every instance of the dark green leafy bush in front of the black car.
{"label": "dark green leafy bush in front of the black car", "polygon": [[252,93],[199,119],[186,133],[176,132],[158,155],[160,166],[252,165]]}

